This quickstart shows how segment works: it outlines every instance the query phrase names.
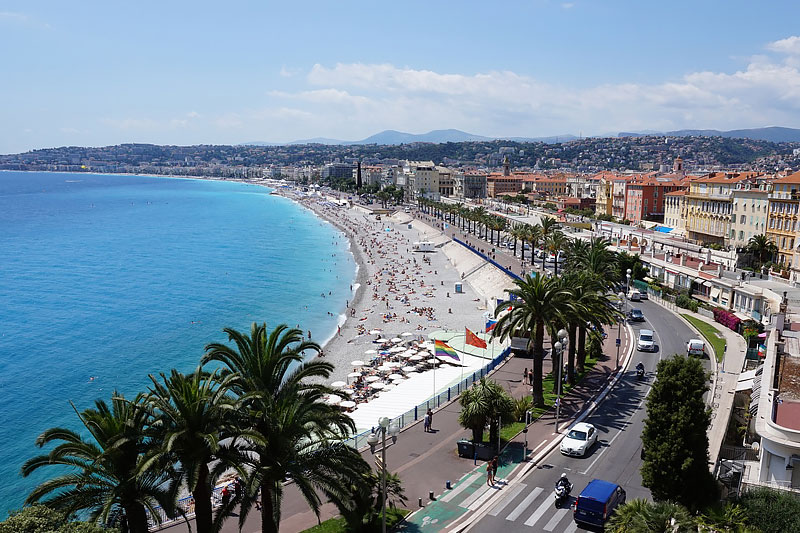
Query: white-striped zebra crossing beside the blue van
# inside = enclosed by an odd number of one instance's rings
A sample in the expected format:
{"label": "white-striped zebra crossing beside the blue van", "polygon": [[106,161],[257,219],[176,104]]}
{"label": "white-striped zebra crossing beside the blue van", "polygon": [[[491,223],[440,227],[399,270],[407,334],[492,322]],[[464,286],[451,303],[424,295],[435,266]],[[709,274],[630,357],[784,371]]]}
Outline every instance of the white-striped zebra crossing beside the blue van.
{"label": "white-striped zebra crossing beside the blue van", "polygon": [[[499,480],[494,487],[484,485],[476,488],[474,483],[482,480],[482,476],[468,478],[465,483],[444,495],[443,499],[447,498],[447,501],[470,511],[476,511],[488,503],[490,509],[484,521],[494,520],[491,526],[493,531],[503,527],[502,524],[506,522],[522,524],[531,531],[559,533],[575,533],[577,531],[577,525],[572,519],[571,507],[565,502],[562,507],[556,508],[553,505],[551,489],[529,487],[525,483],[516,483],[506,488],[505,480]],[[468,487],[473,490],[467,490]],[[502,520],[502,522],[496,522],[496,520]],[[489,522],[486,524],[488,526]],[[482,531],[482,529],[479,527],[476,531]]]}

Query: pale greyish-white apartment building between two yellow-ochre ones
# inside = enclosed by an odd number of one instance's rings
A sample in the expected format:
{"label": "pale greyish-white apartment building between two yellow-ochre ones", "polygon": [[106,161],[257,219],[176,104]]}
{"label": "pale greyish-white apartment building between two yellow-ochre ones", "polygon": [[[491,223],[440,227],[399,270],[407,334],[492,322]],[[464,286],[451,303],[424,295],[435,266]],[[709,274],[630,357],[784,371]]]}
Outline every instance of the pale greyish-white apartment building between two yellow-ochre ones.
{"label": "pale greyish-white apartment building between two yellow-ochre ones", "polygon": [[769,191],[767,180],[744,180],[736,184],[733,193],[731,234],[728,244],[744,248],[755,235],[767,232]]}

